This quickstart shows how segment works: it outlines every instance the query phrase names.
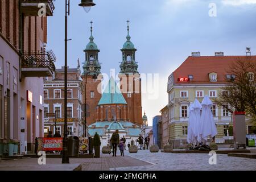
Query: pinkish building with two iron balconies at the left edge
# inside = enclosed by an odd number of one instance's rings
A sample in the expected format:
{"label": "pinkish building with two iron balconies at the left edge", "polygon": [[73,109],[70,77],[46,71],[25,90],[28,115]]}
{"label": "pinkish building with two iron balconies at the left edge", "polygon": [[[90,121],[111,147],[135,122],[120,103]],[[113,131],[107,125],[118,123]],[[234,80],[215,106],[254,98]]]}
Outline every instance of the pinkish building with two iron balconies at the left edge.
{"label": "pinkish building with two iron balconies at the left edge", "polygon": [[43,137],[43,76],[55,70],[55,56],[46,51],[47,16],[40,1],[0,1],[0,142],[19,140],[20,154],[34,152]]}

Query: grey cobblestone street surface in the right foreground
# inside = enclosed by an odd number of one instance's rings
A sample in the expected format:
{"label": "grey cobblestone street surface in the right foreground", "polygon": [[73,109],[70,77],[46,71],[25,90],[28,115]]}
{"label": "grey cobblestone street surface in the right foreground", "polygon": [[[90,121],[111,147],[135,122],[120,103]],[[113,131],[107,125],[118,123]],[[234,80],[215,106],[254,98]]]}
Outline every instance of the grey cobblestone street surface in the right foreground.
{"label": "grey cobblestone street surface in the right foreground", "polygon": [[225,170],[256,170],[256,159],[228,157],[226,154],[217,154],[217,164],[210,165],[208,154],[171,154],[151,153],[149,150],[139,150],[135,154],[126,151],[126,155],[133,158],[153,163],[150,166],[119,167],[112,170],[129,171],[163,171],[163,170],[200,170],[200,171],[225,171]]}

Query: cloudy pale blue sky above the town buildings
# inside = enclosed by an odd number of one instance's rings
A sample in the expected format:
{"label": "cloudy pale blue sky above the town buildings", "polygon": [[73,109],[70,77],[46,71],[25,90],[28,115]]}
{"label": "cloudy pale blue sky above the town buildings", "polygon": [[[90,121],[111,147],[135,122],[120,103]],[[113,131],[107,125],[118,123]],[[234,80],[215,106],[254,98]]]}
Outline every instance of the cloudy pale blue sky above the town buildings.
{"label": "cloudy pale blue sky above the town buildings", "polygon": [[[246,47],[253,55],[256,52],[256,0],[94,0],[96,6],[89,13],[79,3],[71,1],[68,18],[69,68],[77,67],[77,59],[81,65],[85,60],[92,20],[101,72],[110,75],[115,69],[117,75],[129,19],[138,71],[143,75],[142,111],[150,126],[152,117],[168,104],[168,76],[191,52],[245,55]],[[55,53],[57,68],[64,66],[64,16],[65,1],[55,1],[54,14],[48,17],[47,48]]]}

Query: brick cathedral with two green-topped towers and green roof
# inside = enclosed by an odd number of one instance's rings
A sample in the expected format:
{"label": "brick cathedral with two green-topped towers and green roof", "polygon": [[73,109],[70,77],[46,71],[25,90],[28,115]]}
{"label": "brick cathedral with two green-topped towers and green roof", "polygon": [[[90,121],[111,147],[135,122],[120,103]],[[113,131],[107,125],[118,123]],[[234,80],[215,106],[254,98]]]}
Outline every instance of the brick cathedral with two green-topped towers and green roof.
{"label": "brick cathedral with two green-topped towers and green roof", "polygon": [[121,49],[122,62],[118,74],[120,86],[111,77],[104,92],[101,93],[101,64],[98,61],[100,49],[94,43],[92,26],[90,42],[84,50],[82,79],[86,90],[83,98],[85,101],[86,97],[86,124],[89,125],[90,136],[96,132],[100,135],[101,147],[106,146],[116,129],[119,130],[120,137],[126,137],[126,143],[131,142],[132,139],[135,141],[141,134],[143,126],[141,77],[138,63],[135,61],[137,49],[130,40],[129,31],[128,20],[126,42]]}

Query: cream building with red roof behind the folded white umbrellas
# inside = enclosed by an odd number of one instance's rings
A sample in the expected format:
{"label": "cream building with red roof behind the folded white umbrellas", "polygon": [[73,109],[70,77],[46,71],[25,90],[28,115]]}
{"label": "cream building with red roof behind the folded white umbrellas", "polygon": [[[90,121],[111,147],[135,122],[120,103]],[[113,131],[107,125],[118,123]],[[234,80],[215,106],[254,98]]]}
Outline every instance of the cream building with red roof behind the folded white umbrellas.
{"label": "cream building with red roof behind the folded white umbrellas", "polygon": [[[226,107],[217,106],[214,99],[222,93],[226,86],[229,66],[237,59],[246,59],[247,56],[224,56],[224,53],[215,53],[215,56],[201,56],[200,52],[192,53],[168,77],[168,110],[169,110],[169,139],[175,147],[184,147],[187,144],[188,107],[195,98],[200,102],[205,95],[213,101],[212,113],[217,126],[218,139],[224,137],[229,126],[232,126],[232,114]],[[250,56],[255,60],[256,56]],[[228,105],[227,105],[228,106]],[[229,107],[229,106],[228,106]],[[247,131],[250,122],[246,121]]]}

